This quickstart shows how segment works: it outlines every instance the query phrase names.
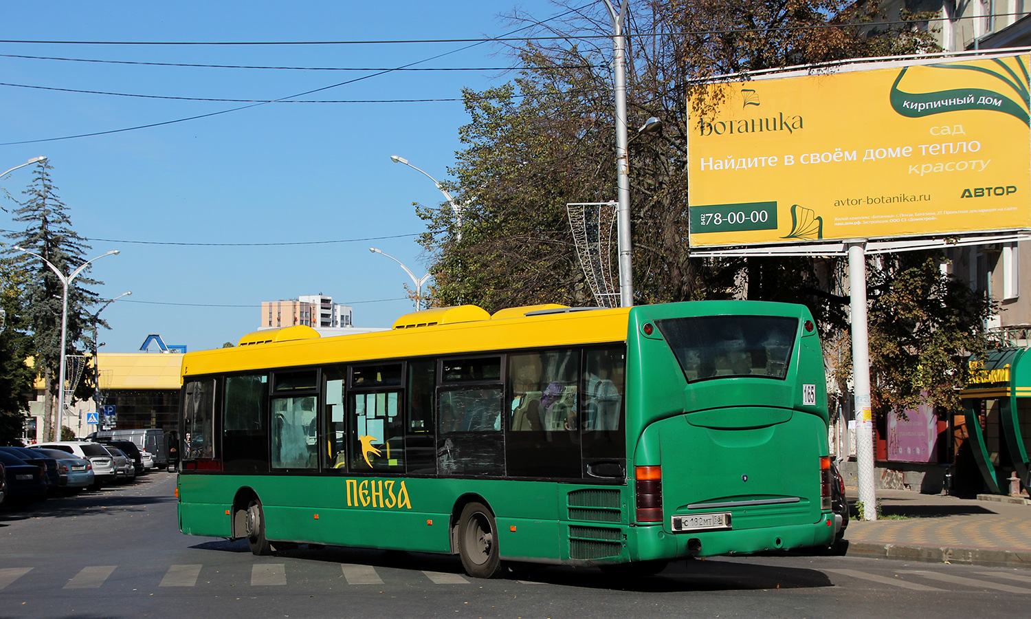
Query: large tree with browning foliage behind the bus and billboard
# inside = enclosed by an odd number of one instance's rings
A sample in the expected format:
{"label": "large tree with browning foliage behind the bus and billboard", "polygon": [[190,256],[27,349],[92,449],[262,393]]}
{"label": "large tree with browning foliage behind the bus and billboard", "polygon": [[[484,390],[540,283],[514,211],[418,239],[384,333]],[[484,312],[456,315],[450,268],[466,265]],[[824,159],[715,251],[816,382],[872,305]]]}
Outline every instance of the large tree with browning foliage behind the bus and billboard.
{"label": "large tree with browning foliage behind the bus and billboard", "polygon": [[[593,3],[538,24],[559,42],[516,46],[525,67],[518,76],[464,93],[470,122],[460,131],[465,148],[448,187],[463,207],[461,234],[448,205],[421,209],[433,304],[595,303],[565,205],[616,197],[611,42],[604,38],[611,24],[603,10]],[[630,144],[636,302],[775,294],[806,302],[821,324],[840,325],[840,297],[821,292],[821,278],[840,270],[834,261],[691,258],[685,101],[705,105],[697,86],[711,75],[930,50],[926,23],[877,27],[873,3],[829,0],[637,1],[629,14],[628,125],[633,133],[650,117],[664,122],[661,134]],[[612,246],[614,269],[614,231]]]}

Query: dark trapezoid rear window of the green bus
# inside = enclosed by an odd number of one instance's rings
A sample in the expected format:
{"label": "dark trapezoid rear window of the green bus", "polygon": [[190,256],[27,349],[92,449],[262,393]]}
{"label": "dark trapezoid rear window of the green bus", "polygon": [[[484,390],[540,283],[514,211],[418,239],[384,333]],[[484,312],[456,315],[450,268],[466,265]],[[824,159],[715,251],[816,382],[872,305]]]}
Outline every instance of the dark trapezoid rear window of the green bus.
{"label": "dark trapezoid rear window of the green bus", "polygon": [[655,321],[689,383],[788,374],[798,319],[701,316]]}

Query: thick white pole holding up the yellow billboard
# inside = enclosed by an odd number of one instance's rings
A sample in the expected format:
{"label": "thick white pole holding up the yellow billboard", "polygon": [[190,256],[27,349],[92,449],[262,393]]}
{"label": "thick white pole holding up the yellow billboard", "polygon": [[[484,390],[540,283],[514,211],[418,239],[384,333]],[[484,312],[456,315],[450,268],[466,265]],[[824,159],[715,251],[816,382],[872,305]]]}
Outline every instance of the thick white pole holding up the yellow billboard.
{"label": "thick white pole holding up the yellow billboard", "polygon": [[856,398],[856,465],[864,520],[876,520],[873,477],[873,417],[870,413],[870,340],[866,306],[866,241],[849,243],[849,301],[852,321],[852,377]]}

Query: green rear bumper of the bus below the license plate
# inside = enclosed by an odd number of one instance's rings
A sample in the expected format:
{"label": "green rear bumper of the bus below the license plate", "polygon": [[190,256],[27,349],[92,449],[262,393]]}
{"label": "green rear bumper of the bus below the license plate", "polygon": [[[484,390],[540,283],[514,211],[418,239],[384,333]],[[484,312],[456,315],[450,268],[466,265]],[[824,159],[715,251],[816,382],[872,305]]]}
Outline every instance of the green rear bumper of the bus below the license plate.
{"label": "green rear bumper of the bus below the license plate", "polygon": [[709,557],[829,546],[834,541],[834,518],[828,513],[816,524],[675,534],[661,526],[637,526],[628,533],[627,550],[634,561]]}

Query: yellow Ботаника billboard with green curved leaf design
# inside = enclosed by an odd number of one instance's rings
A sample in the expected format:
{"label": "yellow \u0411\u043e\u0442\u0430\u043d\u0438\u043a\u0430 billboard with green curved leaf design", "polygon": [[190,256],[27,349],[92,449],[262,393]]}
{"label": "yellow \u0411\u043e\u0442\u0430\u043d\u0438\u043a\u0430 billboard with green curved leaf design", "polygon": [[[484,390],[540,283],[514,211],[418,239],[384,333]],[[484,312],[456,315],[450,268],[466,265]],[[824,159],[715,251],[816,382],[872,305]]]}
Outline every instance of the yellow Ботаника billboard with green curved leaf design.
{"label": "yellow \u0411\u043e\u0442\u0430\u043d\u0438\u043a\u0430 billboard with green curved leaf design", "polygon": [[691,245],[1031,227],[1028,60],[709,85],[688,102]]}

